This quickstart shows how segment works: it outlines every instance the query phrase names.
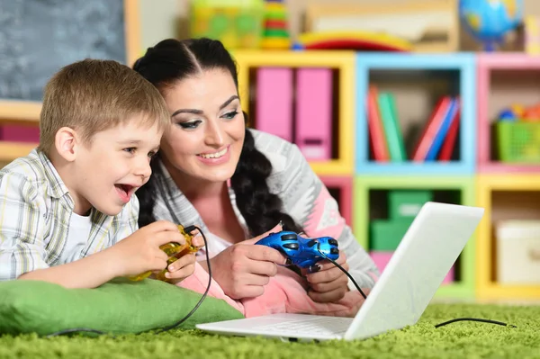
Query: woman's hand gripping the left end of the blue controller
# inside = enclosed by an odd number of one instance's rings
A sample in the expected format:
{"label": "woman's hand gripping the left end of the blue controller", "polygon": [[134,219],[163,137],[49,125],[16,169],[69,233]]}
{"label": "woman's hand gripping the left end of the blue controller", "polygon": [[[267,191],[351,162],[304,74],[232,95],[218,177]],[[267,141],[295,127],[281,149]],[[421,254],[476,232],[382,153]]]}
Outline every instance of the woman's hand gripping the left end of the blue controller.
{"label": "woman's hand gripping the left end of the blue controller", "polygon": [[[287,264],[286,257],[274,248],[254,246],[271,232],[283,230],[280,225],[262,235],[247,239],[211,258],[212,278],[230,298],[257,297],[265,292],[270,277],[277,274],[277,265]],[[205,261],[199,262],[208,270]]]}

